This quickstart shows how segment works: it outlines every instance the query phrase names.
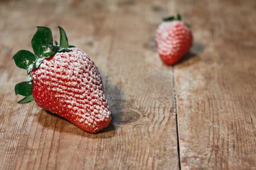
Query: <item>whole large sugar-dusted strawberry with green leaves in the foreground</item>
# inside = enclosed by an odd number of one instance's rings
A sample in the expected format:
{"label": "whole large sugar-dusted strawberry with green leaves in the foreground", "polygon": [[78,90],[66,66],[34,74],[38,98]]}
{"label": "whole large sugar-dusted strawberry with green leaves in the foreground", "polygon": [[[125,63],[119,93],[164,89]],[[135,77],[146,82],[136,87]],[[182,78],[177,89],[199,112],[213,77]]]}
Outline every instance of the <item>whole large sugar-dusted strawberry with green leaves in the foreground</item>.
{"label": "whole large sugar-dusted strawberry with green leaves in the foreground", "polygon": [[26,82],[15,86],[16,95],[25,96],[18,103],[35,100],[89,133],[107,127],[111,113],[97,66],[88,54],[68,45],[61,27],[60,45],[53,44],[49,28],[37,28],[31,41],[35,54],[21,50],[13,57],[28,74]]}

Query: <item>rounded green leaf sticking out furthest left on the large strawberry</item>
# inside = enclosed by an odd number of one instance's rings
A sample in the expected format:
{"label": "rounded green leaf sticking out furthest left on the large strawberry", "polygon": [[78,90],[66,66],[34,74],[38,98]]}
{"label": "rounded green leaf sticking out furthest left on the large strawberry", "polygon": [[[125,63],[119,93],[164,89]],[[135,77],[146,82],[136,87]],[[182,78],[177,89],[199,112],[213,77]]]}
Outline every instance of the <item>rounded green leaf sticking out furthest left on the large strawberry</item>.
{"label": "rounded green leaf sticking out furthest left on the large strawberry", "polygon": [[36,61],[35,55],[27,50],[20,50],[13,56],[16,66],[23,69],[28,69],[31,64]]}

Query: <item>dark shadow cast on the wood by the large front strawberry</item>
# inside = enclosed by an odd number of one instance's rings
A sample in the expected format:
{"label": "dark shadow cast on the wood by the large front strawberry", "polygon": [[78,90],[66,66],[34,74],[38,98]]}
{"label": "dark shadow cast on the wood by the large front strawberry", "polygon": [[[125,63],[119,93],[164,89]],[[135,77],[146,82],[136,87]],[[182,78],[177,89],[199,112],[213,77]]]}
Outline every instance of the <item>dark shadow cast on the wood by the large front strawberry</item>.
{"label": "dark shadow cast on the wood by the large front strawberry", "polygon": [[105,78],[106,76],[102,76],[104,91],[109,103],[110,110],[112,112],[112,120],[108,127],[94,134],[87,133],[73,123],[69,122],[67,119],[64,119],[63,117],[44,109],[41,109],[36,115],[39,124],[41,124],[44,128],[52,129],[62,134],[68,133],[89,138],[114,137],[116,135],[116,129],[118,128],[118,124],[120,124],[120,122],[118,123],[117,120],[122,119],[121,115],[124,115],[122,113],[121,107],[121,105],[123,105],[123,92],[116,85],[108,84],[108,82],[105,81]]}

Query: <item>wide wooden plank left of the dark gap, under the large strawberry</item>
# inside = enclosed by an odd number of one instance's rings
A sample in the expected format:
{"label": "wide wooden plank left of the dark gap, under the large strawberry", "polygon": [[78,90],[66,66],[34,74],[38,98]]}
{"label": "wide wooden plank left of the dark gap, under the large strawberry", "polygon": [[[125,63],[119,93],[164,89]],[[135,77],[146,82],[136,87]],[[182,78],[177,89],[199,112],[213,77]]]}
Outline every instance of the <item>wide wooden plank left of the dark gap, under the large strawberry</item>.
{"label": "wide wooden plank left of the dark gap, under the large strawberry", "polygon": [[[178,169],[172,68],[154,47],[163,1],[0,1],[0,169]],[[102,73],[113,113],[88,134],[42,110],[18,105],[26,79],[11,57],[32,50],[37,25],[62,26]],[[56,28],[56,29],[55,29]]]}

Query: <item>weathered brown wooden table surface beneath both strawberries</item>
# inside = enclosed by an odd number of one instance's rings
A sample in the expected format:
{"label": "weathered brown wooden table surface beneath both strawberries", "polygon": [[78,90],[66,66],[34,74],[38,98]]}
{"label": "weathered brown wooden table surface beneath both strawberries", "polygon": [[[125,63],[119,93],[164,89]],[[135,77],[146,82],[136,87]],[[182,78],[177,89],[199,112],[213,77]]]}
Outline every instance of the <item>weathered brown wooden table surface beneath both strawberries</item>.
{"label": "weathered brown wooden table surface beneath both strawberries", "polygon": [[[194,45],[164,65],[154,36],[179,13]],[[111,125],[88,134],[35,102],[12,56],[35,26],[87,52],[102,73]],[[256,169],[255,0],[0,0],[1,170]]]}

